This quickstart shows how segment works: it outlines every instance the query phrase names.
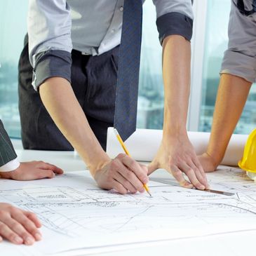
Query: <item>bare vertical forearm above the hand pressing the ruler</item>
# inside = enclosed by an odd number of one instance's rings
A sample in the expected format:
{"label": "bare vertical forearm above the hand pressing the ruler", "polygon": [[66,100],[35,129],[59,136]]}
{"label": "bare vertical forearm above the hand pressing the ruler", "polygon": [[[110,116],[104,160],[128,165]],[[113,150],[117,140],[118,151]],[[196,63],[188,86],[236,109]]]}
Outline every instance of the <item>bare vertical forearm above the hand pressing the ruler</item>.
{"label": "bare vertical forearm above the hand pressing the ruler", "polygon": [[165,92],[163,137],[187,135],[190,92],[190,43],[182,36],[163,41],[163,84]]}

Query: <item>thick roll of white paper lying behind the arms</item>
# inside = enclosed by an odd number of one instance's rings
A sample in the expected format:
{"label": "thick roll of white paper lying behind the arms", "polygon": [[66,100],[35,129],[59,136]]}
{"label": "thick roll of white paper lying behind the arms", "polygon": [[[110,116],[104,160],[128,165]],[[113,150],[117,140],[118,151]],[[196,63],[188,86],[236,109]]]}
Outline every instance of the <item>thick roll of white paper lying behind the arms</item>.
{"label": "thick roll of white paper lying behind the arms", "polygon": [[[152,161],[159,149],[162,135],[162,130],[137,129],[135,133],[126,140],[126,147],[133,159],[146,162]],[[188,135],[196,154],[203,154],[207,149],[210,133],[188,132]],[[222,161],[223,165],[237,166],[238,161],[241,160],[243,156],[243,148],[247,137],[248,135],[232,135]],[[113,128],[108,128],[107,154],[111,158],[114,158],[119,153],[123,153],[123,149],[116,139]]]}

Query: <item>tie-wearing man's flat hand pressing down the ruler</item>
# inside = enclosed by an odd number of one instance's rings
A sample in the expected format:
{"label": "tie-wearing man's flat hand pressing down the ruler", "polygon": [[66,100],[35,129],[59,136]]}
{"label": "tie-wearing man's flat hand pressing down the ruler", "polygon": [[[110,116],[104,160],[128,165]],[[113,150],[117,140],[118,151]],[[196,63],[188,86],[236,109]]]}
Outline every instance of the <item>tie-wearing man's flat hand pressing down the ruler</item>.
{"label": "tie-wearing man's flat hand pressing down the ruler", "polygon": [[[168,142],[162,140],[159,151],[148,166],[149,174],[158,168],[172,173],[182,187],[196,187],[196,189],[209,187],[206,174],[188,137],[171,137]],[[190,182],[185,180],[183,173]]]}

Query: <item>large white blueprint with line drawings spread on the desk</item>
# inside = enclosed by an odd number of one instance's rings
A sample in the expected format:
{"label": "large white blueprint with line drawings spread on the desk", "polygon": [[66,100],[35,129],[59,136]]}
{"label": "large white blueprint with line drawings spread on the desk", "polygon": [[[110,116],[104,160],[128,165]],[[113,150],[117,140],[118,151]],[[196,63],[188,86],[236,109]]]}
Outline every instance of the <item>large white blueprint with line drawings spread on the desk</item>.
{"label": "large white blueprint with line drawings spread on the desk", "polygon": [[0,201],[36,213],[43,224],[43,241],[12,246],[20,255],[256,230],[256,184],[245,172],[223,166],[208,174],[208,182],[234,195],[184,189],[157,173],[149,182],[152,197],[120,195],[99,189],[79,171],[52,180],[0,180]]}

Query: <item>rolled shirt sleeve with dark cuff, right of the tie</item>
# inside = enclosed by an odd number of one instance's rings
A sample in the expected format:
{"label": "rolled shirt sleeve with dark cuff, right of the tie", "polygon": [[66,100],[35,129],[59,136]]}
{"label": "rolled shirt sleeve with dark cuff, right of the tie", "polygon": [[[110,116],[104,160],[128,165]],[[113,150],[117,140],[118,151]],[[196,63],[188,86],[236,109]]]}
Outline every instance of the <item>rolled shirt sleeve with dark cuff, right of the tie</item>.
{"label": "rolled shirt sleeve with dark cuff, right of the tie", "polygon": [[156,26],[159,40],[178,34],[188,41],[192,37],[193,11],[191,0],[153,0],[156,6]]}

